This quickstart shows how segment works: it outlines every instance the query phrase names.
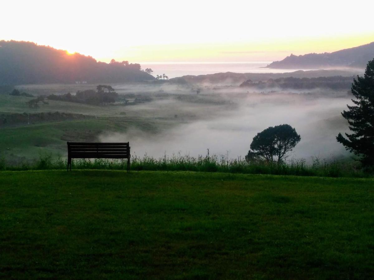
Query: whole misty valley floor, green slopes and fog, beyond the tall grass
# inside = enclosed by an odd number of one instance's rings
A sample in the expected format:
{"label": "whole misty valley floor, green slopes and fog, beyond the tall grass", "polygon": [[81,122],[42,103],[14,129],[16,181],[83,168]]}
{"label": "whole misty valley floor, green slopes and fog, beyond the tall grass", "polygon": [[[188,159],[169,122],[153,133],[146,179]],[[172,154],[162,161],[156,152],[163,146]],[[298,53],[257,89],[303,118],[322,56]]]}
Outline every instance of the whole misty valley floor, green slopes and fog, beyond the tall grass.
{"label": "whole misty valley floor, green slopes and fog, beyond the tall grass", "polygon": [[[218,158],[243,159],[257,133],[289,124],[301,141],[288,160],[348,159],[352,155],[335,137],[348,131],[341,112],[351,103],[352,73],[218,73],[111,83],[113,100],[99,103],[97,84],[17,85],[26,94],[0,94],[0,146],[15,164],[46,154],[65,158],[67,141],[129,141],[132,156],[140,158],[198,157],[209,149]],[[80,100],[87,94],[96,97]]]}

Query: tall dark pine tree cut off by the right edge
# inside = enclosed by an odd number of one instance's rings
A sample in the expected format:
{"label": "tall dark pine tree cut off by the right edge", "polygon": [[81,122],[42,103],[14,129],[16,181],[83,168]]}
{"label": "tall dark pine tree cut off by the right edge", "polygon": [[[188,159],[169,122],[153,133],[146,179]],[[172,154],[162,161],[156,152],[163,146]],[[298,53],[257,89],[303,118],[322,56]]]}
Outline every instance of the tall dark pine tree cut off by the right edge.
{"label": "tall dark pine tree cut off by the right edge", "polygon": [[369,61],[364,77],[353,80],[352,94],[356,106],[347,105],[349,111],[341,113],[348,120],[352,134],[341,133],[336,137],[346,150],[361,156],[364,166],[374,165],[374,59]]}

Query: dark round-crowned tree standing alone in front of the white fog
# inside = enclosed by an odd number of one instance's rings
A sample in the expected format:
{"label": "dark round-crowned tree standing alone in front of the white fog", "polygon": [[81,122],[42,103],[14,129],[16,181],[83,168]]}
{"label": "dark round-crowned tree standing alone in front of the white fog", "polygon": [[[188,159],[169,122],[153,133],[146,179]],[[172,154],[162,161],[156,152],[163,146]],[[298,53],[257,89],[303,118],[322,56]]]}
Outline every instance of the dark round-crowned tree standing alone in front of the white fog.
{"label": "dark round-crowned tree standing alone in front of the white fog", "polygon": [[251,150],[246,158],[260,156],[267,162],[277,159],[277,162],[281,163],[300,140],[300,135],[289,124],[268,127],[253,137]]}

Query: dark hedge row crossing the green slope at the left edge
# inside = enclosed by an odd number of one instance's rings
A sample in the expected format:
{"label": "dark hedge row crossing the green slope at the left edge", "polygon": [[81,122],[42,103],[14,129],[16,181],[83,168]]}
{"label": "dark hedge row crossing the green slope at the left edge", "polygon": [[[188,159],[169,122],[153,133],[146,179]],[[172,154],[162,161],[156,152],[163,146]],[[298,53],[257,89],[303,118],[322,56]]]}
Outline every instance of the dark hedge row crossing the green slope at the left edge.
{"label": "dark hedge row crossing the green slope at the left edge", "polygon": [[61,113],[61,112],[48,112],[48,113],[12,113],[0,114],[0,126],[18,125],[18,124],[34,124],[43,121],[65,121],[73,119],[85,119],[90,116],[82,114]]}

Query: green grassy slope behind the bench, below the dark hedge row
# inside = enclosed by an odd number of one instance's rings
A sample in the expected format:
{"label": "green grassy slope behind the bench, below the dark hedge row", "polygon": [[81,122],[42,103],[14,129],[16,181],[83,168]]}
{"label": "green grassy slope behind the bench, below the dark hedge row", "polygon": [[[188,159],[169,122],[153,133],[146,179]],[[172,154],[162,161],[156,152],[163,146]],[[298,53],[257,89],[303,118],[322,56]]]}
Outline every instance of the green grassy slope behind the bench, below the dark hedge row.
{"label": "green grassy slope behind the bench, below the dark hedge row", "polygon": [[148,132],[156,129],[156,125],[151,121],[123,117],[3,127],[0,128],[0,156],[4,156],[9,162],[17,162],[23,157],[33,159],[49,153],[53,158],[65,156],[67,141],[95,142],[105,131],[125,132],[130,127]]}

